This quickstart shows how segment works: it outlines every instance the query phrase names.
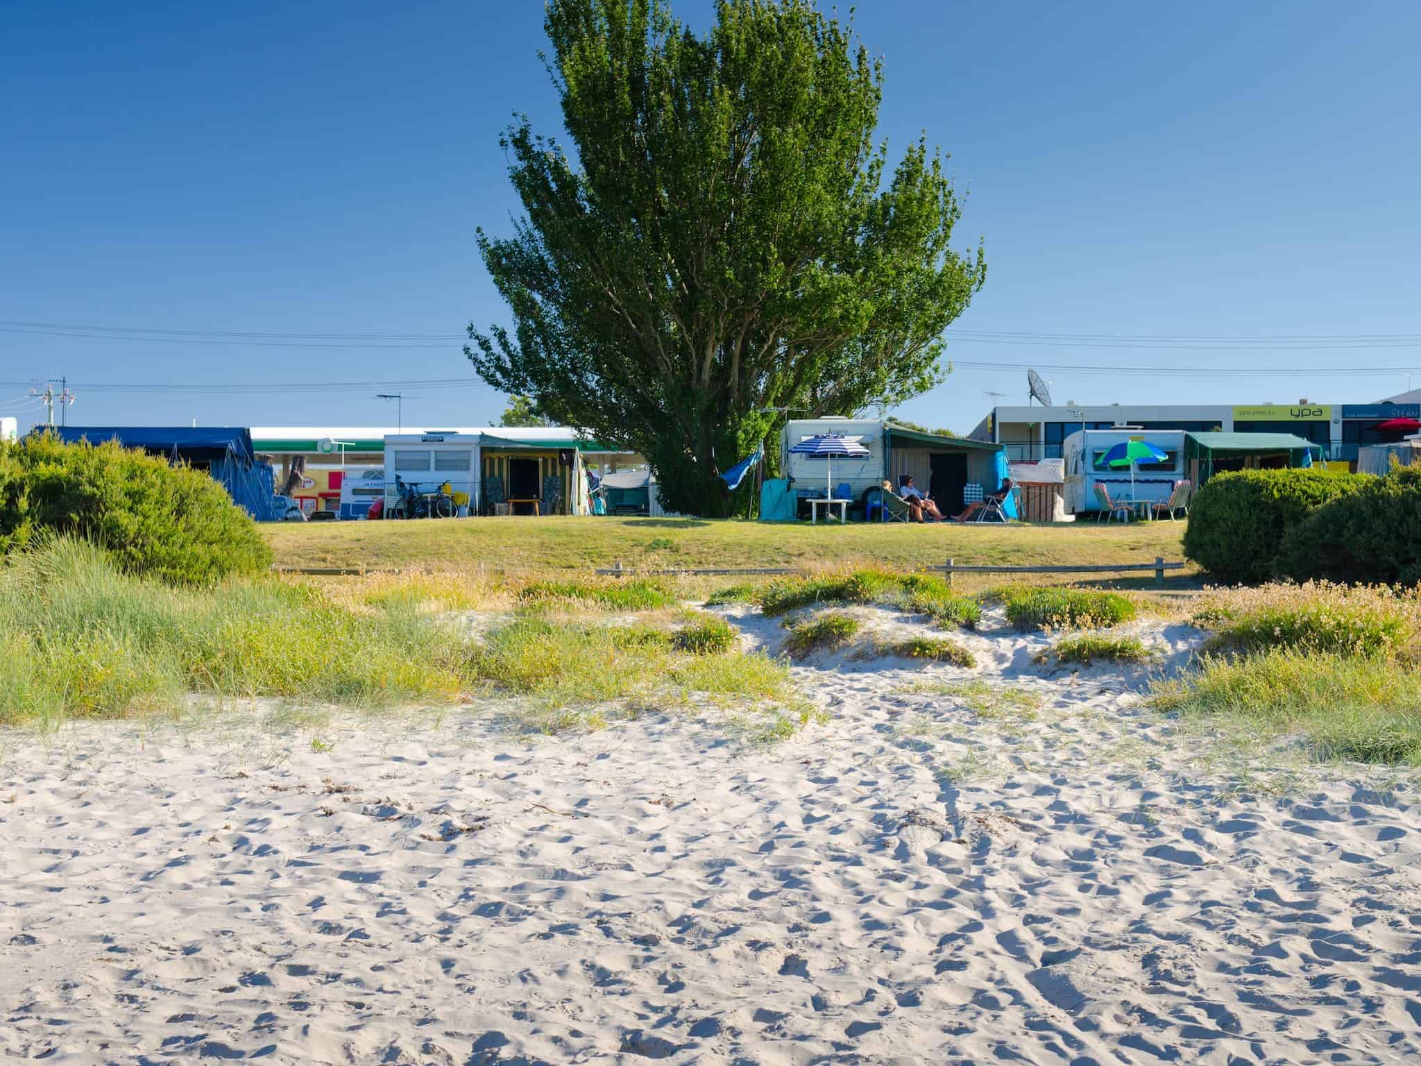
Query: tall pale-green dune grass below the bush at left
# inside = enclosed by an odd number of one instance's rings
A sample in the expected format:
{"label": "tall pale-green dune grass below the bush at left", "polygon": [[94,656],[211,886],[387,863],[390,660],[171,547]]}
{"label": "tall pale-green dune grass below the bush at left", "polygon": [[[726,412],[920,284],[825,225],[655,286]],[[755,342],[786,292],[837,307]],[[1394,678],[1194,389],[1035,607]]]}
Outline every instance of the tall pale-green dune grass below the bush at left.
{"label": "tall pale-green dune grass below the bush at left", "polygon": [[196,712],[193,695],[382,708],[496,694],[522,699],[537,729],[709,704],[783,736],[813,716],[784,664],[735,651],[719,618],[674,631],[519,611],[475,641],[429,610],[441,596],[378,584],[341,603],[276,578],[172,588],[55,539],[0,571],[0,723],[175,716]]}

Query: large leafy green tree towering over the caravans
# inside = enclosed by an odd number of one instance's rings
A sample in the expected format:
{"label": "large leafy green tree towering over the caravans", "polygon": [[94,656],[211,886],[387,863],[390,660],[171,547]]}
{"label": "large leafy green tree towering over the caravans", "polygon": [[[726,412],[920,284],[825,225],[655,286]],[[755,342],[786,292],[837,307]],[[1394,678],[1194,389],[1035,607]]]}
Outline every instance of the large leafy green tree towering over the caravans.
{"label": "large leafy green tree towering over the caravans", "polygon": [[716,475],[786,418],[941,379],[982,286],[919,141],[874,142],[882,71],[809,0],[549,0],[547,67],[576,159],[527,118],[502,138],[526,215],[479,249],[513,330],[469,327],[480,377],[647,456],[672,510],[726,515]]}

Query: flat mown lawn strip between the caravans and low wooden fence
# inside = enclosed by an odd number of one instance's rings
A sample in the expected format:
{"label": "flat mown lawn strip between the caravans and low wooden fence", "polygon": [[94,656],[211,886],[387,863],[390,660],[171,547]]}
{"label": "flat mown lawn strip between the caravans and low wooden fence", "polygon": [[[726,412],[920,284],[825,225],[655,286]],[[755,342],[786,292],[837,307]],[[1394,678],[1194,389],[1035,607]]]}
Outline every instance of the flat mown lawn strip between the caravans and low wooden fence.
{"label": "flat mown lawn strip between the caravans and low wooden fence", "polygon": [[[914,570],[939,566],[949,556],[963,564],[1152,563],[1155,556],[1184,557],[1179,549],[1184,523],[1177,522],[841,527],[698,519],[495,517],[279,523],[263,530],[276,550],[277,566],[286,567],[487,567],[537,573],[585,571],[620,560],[628,567],[668,569],[874,564]],[[1000,584],[1000,578],[983,577]],[[1036,577],[1032,580],[1039,583]],[[1167,581],[1194,586],[1191,570],[1174,571]],[[1120,581],[1127,587],[1152,583],[1154,574]]]}

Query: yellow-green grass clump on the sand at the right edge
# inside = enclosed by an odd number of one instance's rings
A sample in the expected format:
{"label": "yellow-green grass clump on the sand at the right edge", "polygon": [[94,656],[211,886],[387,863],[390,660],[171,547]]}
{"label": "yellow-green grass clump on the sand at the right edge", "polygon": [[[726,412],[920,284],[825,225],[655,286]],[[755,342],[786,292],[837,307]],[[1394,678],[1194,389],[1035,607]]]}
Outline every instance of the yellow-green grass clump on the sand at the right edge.
{"label": "yellow-green grass clump on the sand at the right edge", "polygon": [[1157,682],[1152,702],[1229,723],[1249,742],[1302,733],[1319,759],[1421,765],[1421,672],[1378,657],[1204,657],[1198,671]]}

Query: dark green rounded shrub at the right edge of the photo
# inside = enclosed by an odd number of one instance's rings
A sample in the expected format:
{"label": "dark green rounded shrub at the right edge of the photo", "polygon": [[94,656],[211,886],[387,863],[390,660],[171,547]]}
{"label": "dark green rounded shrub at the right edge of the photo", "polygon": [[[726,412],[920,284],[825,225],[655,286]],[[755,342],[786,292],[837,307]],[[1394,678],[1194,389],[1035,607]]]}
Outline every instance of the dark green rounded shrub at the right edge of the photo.
{"label": "dark green rounded shrub at the right edge of the photo", "polygon": [[1364,478],[1283,537],[1277,576],[1363,584],[1421,581],[1421,468]]}

